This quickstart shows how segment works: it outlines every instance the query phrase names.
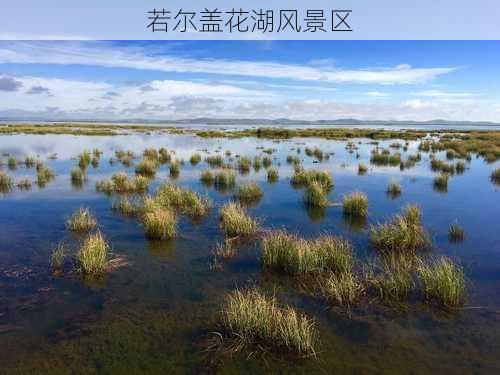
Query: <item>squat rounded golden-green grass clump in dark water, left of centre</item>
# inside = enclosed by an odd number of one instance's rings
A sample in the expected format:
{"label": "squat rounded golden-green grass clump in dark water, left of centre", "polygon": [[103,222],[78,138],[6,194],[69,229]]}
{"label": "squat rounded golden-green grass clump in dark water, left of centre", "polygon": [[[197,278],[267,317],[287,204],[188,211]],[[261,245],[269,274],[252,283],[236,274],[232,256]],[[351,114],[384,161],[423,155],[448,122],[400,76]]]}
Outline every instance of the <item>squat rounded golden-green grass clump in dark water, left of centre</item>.
{"label": "squat rounded golden-green grass clump in dark water, left of centre", "polygon": [[168,208],[152,207],[144,213],[142,224],[149,239],[166,240],[175,237],[177,232],[177,217]]}

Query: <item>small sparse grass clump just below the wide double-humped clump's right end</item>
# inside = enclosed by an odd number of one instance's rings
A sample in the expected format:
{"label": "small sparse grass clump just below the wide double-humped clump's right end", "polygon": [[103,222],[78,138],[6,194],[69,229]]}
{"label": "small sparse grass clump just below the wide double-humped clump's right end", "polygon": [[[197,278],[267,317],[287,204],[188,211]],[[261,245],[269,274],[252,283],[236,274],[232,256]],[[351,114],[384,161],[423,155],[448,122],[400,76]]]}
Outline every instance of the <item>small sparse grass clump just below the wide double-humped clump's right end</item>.
{"label": "small sparse grass clump just below the wide double-humped clump's right end", "polygon": [[340,306],[351,306],[363,293],[363,286],[353,272],[332,273],[320,285],[321,293]]}

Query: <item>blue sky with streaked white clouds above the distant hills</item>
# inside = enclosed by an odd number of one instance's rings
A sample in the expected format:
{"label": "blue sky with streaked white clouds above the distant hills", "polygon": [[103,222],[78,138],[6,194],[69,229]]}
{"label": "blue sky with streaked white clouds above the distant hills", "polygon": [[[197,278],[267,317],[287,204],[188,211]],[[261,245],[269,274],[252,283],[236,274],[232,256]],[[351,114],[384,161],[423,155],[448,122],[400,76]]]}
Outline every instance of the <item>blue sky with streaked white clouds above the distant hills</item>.
{"label": "blue sky with streaked white clouds above the distant hills", "polygon": [[499,41],[0,41],[0,119],[500,122]]}

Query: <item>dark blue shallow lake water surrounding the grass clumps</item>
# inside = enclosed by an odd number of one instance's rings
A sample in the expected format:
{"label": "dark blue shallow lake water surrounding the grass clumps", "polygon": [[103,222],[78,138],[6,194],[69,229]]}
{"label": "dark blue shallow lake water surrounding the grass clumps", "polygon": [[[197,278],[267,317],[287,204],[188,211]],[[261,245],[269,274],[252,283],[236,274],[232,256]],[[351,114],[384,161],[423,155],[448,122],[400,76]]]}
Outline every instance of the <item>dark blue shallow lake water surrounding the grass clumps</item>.
{"label": "dark blue shallow lake water surrounding the grass clumps", "polygon": [[[498,373],[500,371],[500,199],[499,187],[489,175],[499,166],[473,157],[462,175],[450,178],[448,191],[433,189],[435,175],[429,155],[411,169],[370,165],[373,145],[355,140],[356,152],[346,142],[314,138],[271,140],[202,139],[194,135],[125,135],[113,137],[12,135],[0,137],[0,154],[24,160],[39,155],[57,176],[45,188],[0,196],[0,369],[18,373]],[[358,142],[361,142],[358,144]],[[382,141],[387,147],[393,140]],[[319,146],[334,153],[329,160],[313,163],[305,146]],[[410,142],[403,155],[415,154],[418,142]],[[175,150],[186,160],[175,181],[206,193],[215,203],[201,222],[182,218],[180,236],[170,241],[148,241],[140,223],[111,209],[112,199],[95,191],[95,182],[117,171],[134,173],[134,167],[108,160],[115,150],[140,154],[146,147]],[[425,227],[432,234],[437,255],[447,255],[466,270],[468,298],[465,307],[445,314],[420,302],[407,308],[360,306],[351,314],[330,308],[323,300],[305,293],[283,276],[265,272],[259,261],[258,244],[238,248],[238,255],[212,270],[211,252],[223,239],[218,226],[218,208],[232,199],[204,187],[199,181],[205,162],[193,167],[189,156],[200,150],[215,154],[231,150],[233,155],[254,156],[260,149],[275,148],[274,164],[280,179],[269,184],[266,171],[253,169],[238,181],[259,182],[264,197],[250,213],[265,228],[285,227],[304,237],[326,231],[352,241],[360,259],[373,255],[368,242],[370,224],[384,221],[407,203],[423,211]],[[333,202],[354,190],[368,195],[366,223],[349,223],[339,206],[310,211],[302,203],[303,190],[290,186],[293,169],[286,163],[292,148],[305,167],[327,169],[335,178],[330,193]],[[74,159],[82,150],[104,151],[100,165],[89,167],[89,180],[82,188],[70,183]],[[57,152],[56,160],[47,159]],[[203,156],[207,154],[201,152]],[[443,153],[438,157],[444,158]],[[6,156],[2,160],[6,161]],[[357,173],[359,162],[368,173]],[[16,180],[36,179],[34,169],[18,165],[9,170]],[[169,181],[168,166],[157,173],[154,190]],[[385,193],[390,181],[402,186],[401,196]],[[114,256],[128,265],[100,280],[82,280],[67,267],[64,276],[49,272],[49,256],[64,240],[75,249],[78,236],[65,229],[65,219],[85,205],[96,214],[99,227],[112,246]],[[449,225],[458,220],[465,228],[462,243],[450,243]],[[357,225],[356,225],[357,224]],[[271,353],[248,353],[222,357],[206,352],[210,332],[220,330],[218,317],[225,294],[235,287],[257,284],[274,292],[316,320],[320,331],[317,359],[297,359]]]}

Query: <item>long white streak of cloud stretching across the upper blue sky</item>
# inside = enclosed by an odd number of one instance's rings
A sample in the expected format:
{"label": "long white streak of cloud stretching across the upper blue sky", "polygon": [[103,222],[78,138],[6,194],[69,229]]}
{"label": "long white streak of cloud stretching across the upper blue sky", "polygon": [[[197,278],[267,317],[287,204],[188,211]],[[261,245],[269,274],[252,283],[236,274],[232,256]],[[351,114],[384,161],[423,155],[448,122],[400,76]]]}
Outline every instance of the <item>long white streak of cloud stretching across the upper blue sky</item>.
{"label": "long white streak of cloud stretching across the upper blue sky", "polygon": [[79,64],[176,73],[381,85],[421,84],[455,70],[453,67],[414,68],[407,64],[377,69],[340,69],[266,61],[192,59],[166,54],[154,55],[140,48],[120,48],[98,42],[0,44],[0,63]]}

